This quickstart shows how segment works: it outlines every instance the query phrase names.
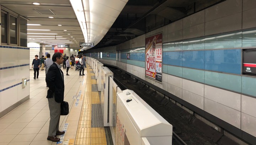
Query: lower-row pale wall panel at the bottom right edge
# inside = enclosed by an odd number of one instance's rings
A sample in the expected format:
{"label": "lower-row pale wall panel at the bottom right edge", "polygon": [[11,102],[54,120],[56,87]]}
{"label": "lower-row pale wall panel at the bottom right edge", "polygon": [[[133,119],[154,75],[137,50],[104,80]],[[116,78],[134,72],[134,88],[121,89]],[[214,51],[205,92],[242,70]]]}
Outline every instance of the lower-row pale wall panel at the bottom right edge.
{"label": "lower-row pale wall panel at the bottom right edge", "polygon": [[244,113],[241,113],[241,130],[256,137],[256,118]]}

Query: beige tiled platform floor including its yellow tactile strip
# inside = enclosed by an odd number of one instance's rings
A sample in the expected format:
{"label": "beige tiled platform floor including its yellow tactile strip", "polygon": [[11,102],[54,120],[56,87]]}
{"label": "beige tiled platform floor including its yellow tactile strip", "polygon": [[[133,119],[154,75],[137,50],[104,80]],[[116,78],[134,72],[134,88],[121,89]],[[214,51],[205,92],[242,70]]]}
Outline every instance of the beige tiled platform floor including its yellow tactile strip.
{"label": "beige tiled platform floor including its yellow tactile strip", "polygon": [[[49,128],[49,106],[46,98],[48,87],[45,71],[39,70],[39,78],[33,79],[30,70],[30,99],[0,118],[1,145],[106,145],[106,133],[100,106],[95,75],[87,64],[85,76],[69,69],[64,73],[64,101],[69,103],[69,114],[60,116],[59,130],[62,142],[47,140]],[[108,143],[110,144],[110,143]]]}

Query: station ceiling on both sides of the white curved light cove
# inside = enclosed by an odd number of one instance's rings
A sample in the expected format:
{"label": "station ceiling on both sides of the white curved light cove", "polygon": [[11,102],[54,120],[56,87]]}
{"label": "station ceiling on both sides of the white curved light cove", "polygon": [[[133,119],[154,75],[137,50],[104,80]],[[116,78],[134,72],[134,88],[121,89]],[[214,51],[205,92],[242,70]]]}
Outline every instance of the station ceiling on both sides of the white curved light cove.
{"label": "station ceiling on both sides of the white curved light cove", "polygon": [[[222,1],[224,0],[128,0],[112,27],[92,49],[118,45]],[[33,5],[33,2],[40,5]],[[70,48],[75,49],[81,48],[79,42],[85,41],[69,0],[0,0],[0,5],[28,19],[28,24],[40,24],[28,25],[28,41],[46,38],[39,36],[51,36],[48,38],[53,39],[49,40],[57,43],[65,40],[60,42],[69,43]],[[54,18],[48,18],[49,16]]]}

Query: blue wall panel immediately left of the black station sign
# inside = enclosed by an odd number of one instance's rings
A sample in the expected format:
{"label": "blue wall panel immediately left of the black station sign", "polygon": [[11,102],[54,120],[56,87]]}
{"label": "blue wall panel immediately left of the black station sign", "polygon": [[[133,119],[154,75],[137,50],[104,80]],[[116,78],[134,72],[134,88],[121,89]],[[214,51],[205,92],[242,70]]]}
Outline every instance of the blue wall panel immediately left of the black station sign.
{"label": "blue wall panel immediately left of the black station sign", "polygon": [[241,74],[241,50],[205,51],[205,69]]}

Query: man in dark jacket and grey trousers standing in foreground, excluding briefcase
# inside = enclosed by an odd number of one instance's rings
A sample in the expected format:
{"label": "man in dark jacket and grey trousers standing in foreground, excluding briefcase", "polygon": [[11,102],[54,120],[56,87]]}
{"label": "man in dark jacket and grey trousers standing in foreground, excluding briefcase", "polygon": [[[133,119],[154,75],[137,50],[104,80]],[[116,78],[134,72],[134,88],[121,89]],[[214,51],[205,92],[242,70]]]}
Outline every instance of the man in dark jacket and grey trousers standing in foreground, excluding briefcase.
{"label": "man in dark jacket and grey trousers standing in foreground, excluding briefcase", "polygon": [[50,109],[50,125],[47,140],[57,142],[60,138],[56,135],[62,135],[65,132],[59,131],[60,121],[60,103],[64,100],[64,76],[60,69],[63,63],[62,53],[55,53],[52,57],[53,64],[50,66],[46,75],[46,84],[49,87],[47,91],[49,109]]}

